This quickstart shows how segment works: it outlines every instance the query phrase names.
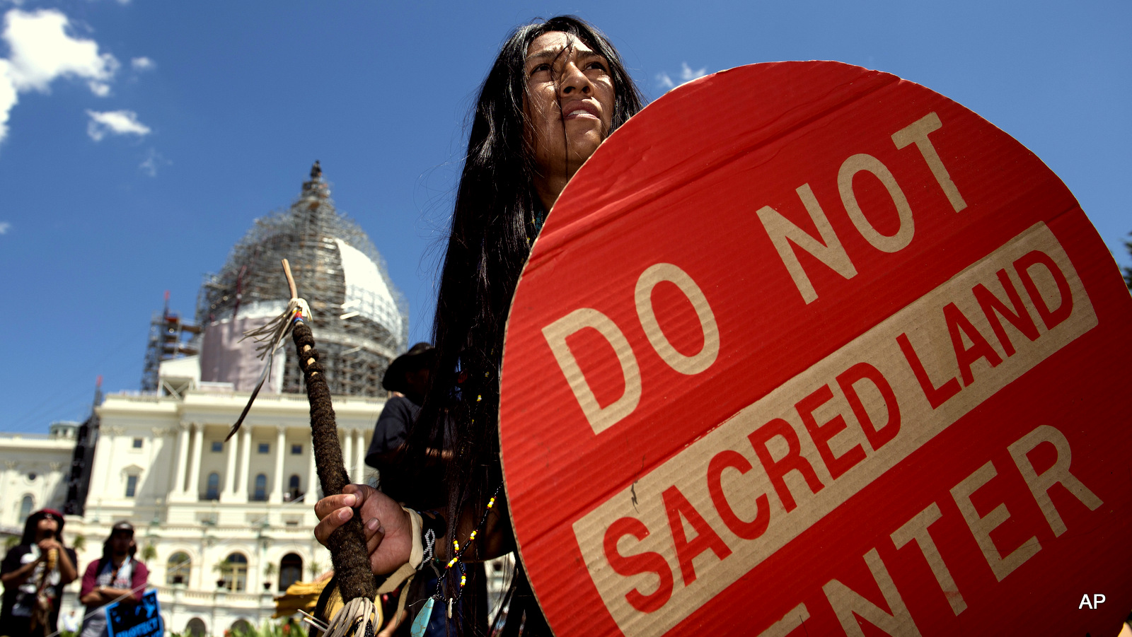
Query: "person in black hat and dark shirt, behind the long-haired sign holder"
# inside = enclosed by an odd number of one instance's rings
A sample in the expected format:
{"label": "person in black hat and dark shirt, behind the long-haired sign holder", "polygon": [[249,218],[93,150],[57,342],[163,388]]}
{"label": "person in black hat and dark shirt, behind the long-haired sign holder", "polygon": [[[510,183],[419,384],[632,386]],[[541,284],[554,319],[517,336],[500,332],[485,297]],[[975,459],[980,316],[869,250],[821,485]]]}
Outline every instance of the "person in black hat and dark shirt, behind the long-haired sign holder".
{"label": "person in black hat and dark shirt, behind the long-haired sign holder", "polygon": [[[366,464],[380,472],[381,491],[417,509],[443,506],[446,497],[444,467],[405,467],[398,453],[404,448],[409,430],[420,414],[424,391],[428,389],[429,373],[436,362],[436,350],[428,343],[418,343],[389,363],[381,378],[381,387],[395,393],[385,402],[385,408],[377,419],[374,438],[366,451]],[[438,449],[444,441],[437,441]],[[435,457],[451,456],[451,451],[437,451]]]}

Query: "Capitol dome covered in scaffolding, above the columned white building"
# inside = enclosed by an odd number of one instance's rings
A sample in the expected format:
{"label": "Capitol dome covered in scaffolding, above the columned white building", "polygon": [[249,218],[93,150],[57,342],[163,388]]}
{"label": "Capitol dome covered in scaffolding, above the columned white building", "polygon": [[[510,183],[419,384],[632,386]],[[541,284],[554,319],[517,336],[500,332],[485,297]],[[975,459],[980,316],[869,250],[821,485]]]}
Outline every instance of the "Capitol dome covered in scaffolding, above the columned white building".
{"label": "Capitol dome covered in scaffolding, above the columned white building", "polygon": [[[335,209],[321,173],[315,162],[294,204],[257,218],[220,273],[205,277],[196,319],[207,327],[277,316],[289,300],[280,266],[286,258],[314,313],[331,393],[385,396],[381,377],[408,348],[408,303],[366,232]],[[303,390],[298,365],[283,363],[278,389]]]}

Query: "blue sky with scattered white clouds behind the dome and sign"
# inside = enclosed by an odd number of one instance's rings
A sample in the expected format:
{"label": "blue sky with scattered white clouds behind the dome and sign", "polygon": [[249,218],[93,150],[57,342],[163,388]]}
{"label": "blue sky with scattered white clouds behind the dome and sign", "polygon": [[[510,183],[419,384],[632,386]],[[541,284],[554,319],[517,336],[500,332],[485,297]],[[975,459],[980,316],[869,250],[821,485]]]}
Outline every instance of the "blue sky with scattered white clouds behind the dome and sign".
{"label": "blue sky with scattered white clouds behind the dome and sign", "polygon": [[0,0],[0,431],[137,389],[151,315],[285,208],[314,160],[427,338],[463,122],[514,25],[580,15],[650,98],[833,59],[923,84],[1034,150],[1121,265],[1132,231],[1127,2]]}

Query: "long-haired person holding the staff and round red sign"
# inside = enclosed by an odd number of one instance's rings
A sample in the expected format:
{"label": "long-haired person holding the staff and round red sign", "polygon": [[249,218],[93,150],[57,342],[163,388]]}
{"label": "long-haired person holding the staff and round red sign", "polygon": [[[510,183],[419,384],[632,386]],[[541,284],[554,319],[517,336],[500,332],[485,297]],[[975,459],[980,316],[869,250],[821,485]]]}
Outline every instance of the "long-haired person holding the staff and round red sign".
{"label": "long-haired person holding the staff and round red sign", "polygon": [[[531,243],[567,181],[642,105],[617,50],[597,28],[571,16],[515,29],[483,81],[440,272],[436,367],[401,457],[409,472],[445,472],[446,510],[415,522],[419,530],[439,531],[439,556],[452,557],[453,540],[468,546],[465,560],[491,558],[514,546],[501,510],[506,497],[498,491],[503,476],[497,430],[511,299]],[[440,448],[445,438],[453,458],[441,465],[429,449]],[[486,515],[497,492],[504,497],[497,498],[492,515]],[[367,522],[375,573],[397,569],[409,561],[413,543],[420,546],[413,514],[362,485],[350,485],[316,505],[319,541],[352,517],[353,508]],[[468,544],[481,522],[484,528]],[[525,577],[516,579],[509,616],[523,619],[525,613],[525,632],[537,634],[544,623]]]}

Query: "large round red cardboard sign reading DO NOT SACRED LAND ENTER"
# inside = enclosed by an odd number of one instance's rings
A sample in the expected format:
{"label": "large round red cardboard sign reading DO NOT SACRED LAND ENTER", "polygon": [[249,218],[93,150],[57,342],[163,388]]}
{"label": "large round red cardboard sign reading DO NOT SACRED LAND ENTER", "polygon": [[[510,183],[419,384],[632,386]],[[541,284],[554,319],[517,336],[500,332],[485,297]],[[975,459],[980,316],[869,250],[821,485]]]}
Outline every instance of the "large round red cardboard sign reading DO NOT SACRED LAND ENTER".
{"label": "large round red cardboard sign reading DO NOT SACRED LAND ENTER", "polygon": [[503,464],[550,627],[1116,635],[1130,319],[1065,186],[946,97],[837,62],[671,92],[512,307]]}

